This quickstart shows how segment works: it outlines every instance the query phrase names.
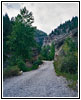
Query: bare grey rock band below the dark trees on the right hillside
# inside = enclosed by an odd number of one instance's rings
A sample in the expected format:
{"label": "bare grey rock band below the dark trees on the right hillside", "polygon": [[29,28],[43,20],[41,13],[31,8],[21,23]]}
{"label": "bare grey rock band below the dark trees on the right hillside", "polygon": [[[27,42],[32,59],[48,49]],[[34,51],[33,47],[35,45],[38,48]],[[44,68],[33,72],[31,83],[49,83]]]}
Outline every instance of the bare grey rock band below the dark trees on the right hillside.
{"label": "bare grey rock band below the dark trees on the right hillside", "polygon": [[51,45],[52,42],[54,42],[54,44],[57,45],[57,44],[63,42],[67,37],[74,36],[77,33],[78,33],[78,28],[75,28],[67,34],[52,35],[52,36],[45,37],[44,42],[43,42],[43,46]]}

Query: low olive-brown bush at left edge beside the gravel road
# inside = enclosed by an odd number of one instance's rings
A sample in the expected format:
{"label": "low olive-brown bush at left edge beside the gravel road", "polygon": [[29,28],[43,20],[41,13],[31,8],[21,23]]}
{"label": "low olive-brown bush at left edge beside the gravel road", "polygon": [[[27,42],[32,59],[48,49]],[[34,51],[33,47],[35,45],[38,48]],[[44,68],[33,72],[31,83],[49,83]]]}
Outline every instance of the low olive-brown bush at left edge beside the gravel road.
{"label": "low olive-brown bush at left edge beside the gravel road", "polygon": [[18,66],[8,66],[7,68],[3,69],[3,77],[11,77],[19,75],[20,69]]}

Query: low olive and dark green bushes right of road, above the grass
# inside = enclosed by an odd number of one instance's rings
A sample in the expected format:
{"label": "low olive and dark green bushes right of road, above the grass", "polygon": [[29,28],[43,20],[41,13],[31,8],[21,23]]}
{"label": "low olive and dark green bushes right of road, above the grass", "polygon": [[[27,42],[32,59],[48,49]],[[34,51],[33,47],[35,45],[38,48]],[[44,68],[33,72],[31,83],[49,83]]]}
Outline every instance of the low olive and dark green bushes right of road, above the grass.
{"label": "low olive and dark green bushes right of road, above the grass", "polygon": [[58,56],[54,61],[54,67],[57,73],[65,72],[70,74],[77,73],[78,60],[75,55]]}

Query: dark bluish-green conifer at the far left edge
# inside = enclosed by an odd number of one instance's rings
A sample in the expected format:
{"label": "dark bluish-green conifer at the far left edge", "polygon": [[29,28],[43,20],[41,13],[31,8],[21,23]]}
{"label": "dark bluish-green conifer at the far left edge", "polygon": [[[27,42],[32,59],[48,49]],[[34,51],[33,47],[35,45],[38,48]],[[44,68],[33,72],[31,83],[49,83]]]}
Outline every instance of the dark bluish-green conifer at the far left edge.
{"label": "dark bluish-green conifer at the far left edge", "polygon": [[8,36],[11,33],[11,22],[7,14],[3,16],[3,61],[6,61],[9,53],[9,46],[7,45]]}

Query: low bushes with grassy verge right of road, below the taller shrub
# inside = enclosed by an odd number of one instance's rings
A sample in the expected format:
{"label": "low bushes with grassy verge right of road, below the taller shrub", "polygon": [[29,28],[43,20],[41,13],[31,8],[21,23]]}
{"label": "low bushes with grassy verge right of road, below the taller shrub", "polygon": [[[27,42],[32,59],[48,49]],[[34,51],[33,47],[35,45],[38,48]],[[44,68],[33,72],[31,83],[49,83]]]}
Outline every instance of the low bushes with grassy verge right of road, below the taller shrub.
{"label": "low bushes with grassy verge right of road, below the taller shrub", "polygon": [[54,61],[54,68],[58,76],[64,76],[70,81],[68,86],[72,89],[76,88],[76,83],[78,80],[77,74],[77,59],[74,56],[61,57],[59,56],[56,61]]}

